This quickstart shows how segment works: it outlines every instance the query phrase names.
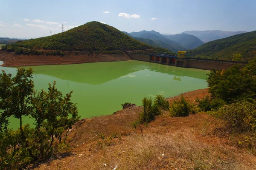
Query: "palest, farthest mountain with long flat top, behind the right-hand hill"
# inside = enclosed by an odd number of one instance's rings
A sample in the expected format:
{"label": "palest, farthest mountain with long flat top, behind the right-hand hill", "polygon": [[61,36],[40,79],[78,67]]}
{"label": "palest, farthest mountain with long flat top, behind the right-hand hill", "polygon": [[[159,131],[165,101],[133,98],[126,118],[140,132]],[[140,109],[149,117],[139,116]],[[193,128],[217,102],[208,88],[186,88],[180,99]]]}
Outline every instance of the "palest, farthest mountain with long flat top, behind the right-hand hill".
{"label": "palest, farthest mountain with long flat top, behind the right-hand hill", "polygon": [[221,38],[230,37],[236,34],[245,33],[246,31],[220,31],[220,30],[214,30],[214,31],[185,31],[181,34],[190,34],[198,37],[203,42],[209,42],[213,40],[218,40]]}

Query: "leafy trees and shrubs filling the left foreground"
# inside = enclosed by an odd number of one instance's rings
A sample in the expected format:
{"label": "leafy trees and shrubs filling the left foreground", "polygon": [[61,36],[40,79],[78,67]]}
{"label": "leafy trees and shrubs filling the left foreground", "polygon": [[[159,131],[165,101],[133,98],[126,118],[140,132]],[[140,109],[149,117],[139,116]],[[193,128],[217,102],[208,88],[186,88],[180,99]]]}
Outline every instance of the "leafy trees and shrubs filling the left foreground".
{"label": "leafy trees and shrubs filling the left foreground", "polygon": [[[31,161],[46,159],[53,145],[63,148],[67,131],[79,119],[70,100],[72,91],[63,96],[53,82],[47,92],[36,93],[32,73],[32,68],[17,68],[14,77],[5,71],[0,74],[0,148],[6,148],[0,151],[1,169],[19,169]],[[11,116],[20,120],[18,130],[8,129]],[[35,127],[22,125],[23,116],[34,118]]]}

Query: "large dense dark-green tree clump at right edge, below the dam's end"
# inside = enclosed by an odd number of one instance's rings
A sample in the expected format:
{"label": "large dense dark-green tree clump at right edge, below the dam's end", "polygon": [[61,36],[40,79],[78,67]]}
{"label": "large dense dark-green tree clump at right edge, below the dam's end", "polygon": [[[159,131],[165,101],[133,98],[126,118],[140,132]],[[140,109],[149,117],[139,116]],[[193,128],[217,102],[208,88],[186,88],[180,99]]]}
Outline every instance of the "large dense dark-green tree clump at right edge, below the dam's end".
{"label": "large dense dark-green tree clump at right edge, below the dam's end", "polygon": [[256,59],[241,69],[234,65],[226,71],[211,71],[207,78],[212,98],[231,103],[237,99],[256,97]]}

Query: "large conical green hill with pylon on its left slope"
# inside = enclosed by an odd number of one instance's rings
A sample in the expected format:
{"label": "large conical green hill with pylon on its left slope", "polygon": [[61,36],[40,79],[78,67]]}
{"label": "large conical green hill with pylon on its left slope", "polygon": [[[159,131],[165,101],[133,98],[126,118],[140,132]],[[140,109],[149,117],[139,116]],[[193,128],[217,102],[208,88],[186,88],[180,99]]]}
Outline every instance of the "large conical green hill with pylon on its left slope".
{"label": "large conical green hill with pylon on its left slope", "polygon": [[150,45],[134,40],[112,26],[95,21],[49,37],[25,40],[7,46],[7,48],[17,47],[62,51],[143,50],[151,48]]}

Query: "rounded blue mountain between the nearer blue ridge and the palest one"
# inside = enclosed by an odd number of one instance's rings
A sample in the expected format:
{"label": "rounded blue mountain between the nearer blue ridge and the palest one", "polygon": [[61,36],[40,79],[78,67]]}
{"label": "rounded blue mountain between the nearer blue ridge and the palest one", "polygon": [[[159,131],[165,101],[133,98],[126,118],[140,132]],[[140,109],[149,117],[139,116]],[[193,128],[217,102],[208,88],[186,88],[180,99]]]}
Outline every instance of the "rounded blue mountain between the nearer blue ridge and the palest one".
{"label": "rounded blue mountain between the nearer blue ridge and the palest one", "polygon": [[189,34],[175,34],[175,35],[166,35],[166,38],[172,40],[174,42],[179,43],[183,47],[190,49],[194,49],[204,44],[198,37]]}

